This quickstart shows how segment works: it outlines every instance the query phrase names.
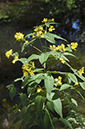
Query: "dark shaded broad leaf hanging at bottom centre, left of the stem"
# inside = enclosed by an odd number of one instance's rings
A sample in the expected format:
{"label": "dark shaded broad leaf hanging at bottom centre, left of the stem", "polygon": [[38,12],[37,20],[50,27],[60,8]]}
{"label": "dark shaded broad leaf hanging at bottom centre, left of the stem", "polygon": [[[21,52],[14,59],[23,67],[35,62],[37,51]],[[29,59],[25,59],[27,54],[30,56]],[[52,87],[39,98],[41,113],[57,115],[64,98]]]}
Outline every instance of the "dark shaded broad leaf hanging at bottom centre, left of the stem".
{"label": "dark shaded broad leaf hanging at bottom centre, left of the stem", "polygon": [[42,117],[44,102],[45,102],[45,97],[43,96],[38,95],[35,98],[35,109],[39,117]]}

